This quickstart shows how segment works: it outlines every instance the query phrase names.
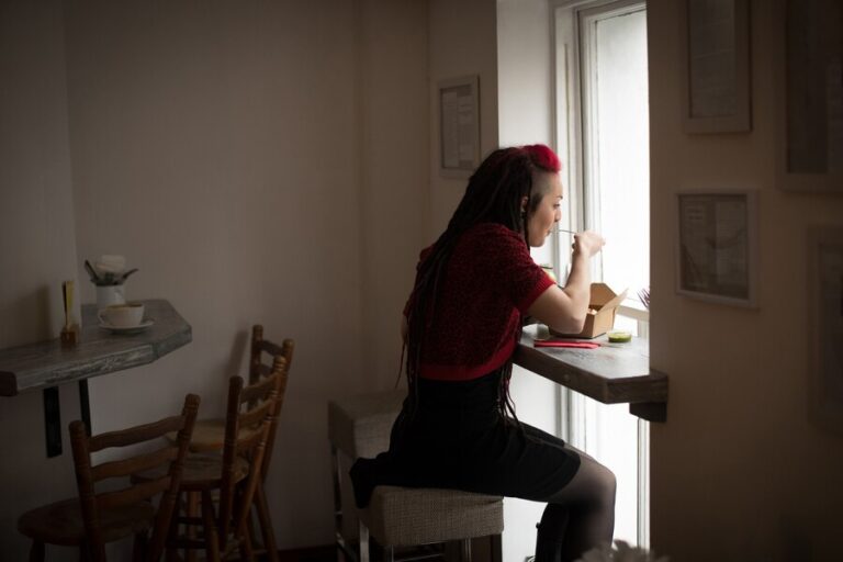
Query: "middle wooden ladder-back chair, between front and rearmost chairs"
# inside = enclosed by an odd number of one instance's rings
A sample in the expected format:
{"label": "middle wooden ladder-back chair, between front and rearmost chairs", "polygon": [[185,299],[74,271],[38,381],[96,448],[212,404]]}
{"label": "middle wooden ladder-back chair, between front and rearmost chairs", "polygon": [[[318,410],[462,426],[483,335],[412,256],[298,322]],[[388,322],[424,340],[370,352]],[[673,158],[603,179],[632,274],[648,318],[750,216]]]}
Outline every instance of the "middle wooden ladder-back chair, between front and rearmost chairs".
{"label": "middle wooden ladder-back chair, between front and rearmost chairs", "polygon": [[[205,550],[206,559],[218,561],[239,551],[240,560],[255,560],[248,517],[262,480],[270,429],[276,423],[279,393],[286,384],[286,361],[276,357],[271,373],[244,387],[240,376],[228,384],[228,405],[223,452],[190,453],[184,461],[180,494],[198,497],[201,517],[177,514],[167,540],[168,552],[177,549]],[[135,474],[137,481],[156,474]],[[213,494],[217,493],[216,506]],[[201,539],[188,530],[201,527]]]}

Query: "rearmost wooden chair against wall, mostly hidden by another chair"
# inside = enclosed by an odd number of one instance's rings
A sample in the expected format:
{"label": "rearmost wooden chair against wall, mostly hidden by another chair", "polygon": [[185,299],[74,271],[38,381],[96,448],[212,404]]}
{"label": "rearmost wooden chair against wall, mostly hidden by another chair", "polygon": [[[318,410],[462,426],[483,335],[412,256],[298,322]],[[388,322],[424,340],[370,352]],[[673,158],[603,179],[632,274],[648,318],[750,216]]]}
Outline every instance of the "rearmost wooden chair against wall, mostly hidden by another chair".
{"label": "rearmost wooden chair against wall, mostly hidden by another chair", "polygon": [[[257,555],[266,554],[270,562],[278,562],[278,543],[276,542],[276,535],[272,529],[272,519],[269,514],[269,503],[267,502],[263,484],[267,480],[269,464],[272,459],[278,419],[281,414],[281,406],[283,405],[284,393],[286,390],[286,375],[290,372],[290,366],[293,361],[295,344],[292,339],[284,339],[279,346],[268,339],[263,339],[263,326],[256,324],[251,327],[251,342],[249,347],[249,384],[255,384],[270,375],[272,372],[272,361],[274,361],[276,358],[282,357],[286,362],[286,369],[279,389],[276,412],[273,413],[273,423],[269,429],[267,449],[263,452],[260,481],[257,484],[254,497],[255,515],[257,516],[258,527],[260,528],[261,542],[257,541],[254,525],[251,525],[251,519],[249,519],[249,532],[255,553]],[[269,362],[267,362],[267,359],[269,359]],[[175,438],[175,436],[172,437]],[[224,417],[199,419],[196,420],[196,428],[193,431],[190,450],[193,452],[220,451],[223,449],[224,441]],[[196,494],[189,495],[188,506],[188,512],[191,515],[195,515],[199,507]],[[188,558],[189,560],[193,559],[192,555],[189,555]]]}

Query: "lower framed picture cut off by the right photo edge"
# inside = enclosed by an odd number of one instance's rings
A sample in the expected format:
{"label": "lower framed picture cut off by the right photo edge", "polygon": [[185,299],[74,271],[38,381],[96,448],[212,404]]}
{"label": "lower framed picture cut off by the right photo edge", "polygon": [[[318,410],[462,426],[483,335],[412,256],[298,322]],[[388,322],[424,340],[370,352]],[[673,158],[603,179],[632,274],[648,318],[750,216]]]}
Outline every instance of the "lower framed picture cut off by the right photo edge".
{"label": "lower framed picture cut off by the right photo edge", "polygon": [[843,434],[843,228],[808,231],[810,415]]}

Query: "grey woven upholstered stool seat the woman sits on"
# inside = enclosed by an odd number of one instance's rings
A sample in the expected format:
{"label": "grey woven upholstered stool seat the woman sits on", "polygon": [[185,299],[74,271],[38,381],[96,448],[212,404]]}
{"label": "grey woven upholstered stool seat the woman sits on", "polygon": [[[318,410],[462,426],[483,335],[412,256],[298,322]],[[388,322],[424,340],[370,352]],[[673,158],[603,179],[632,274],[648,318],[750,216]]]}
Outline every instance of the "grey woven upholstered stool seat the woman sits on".
{"label": "grey woven upholstered stool seat the woman sits on", "polygon": [[504,530],[503,497],[456,490],[378,486],[359,514],[384,547],[486,537]]}

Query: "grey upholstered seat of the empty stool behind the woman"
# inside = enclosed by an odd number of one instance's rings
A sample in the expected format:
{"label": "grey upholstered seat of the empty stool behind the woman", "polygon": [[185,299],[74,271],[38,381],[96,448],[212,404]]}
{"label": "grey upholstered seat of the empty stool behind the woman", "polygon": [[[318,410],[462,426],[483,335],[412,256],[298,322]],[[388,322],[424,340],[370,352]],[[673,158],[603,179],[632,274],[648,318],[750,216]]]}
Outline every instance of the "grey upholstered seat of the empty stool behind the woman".
{"label": "grey upholstered seat of the empty stool behind the woman", "polygon": [[329,401],[328,440],[351,459],[385,451],[406,396],[406,390],[396,390]]}

